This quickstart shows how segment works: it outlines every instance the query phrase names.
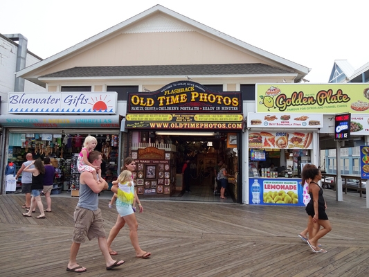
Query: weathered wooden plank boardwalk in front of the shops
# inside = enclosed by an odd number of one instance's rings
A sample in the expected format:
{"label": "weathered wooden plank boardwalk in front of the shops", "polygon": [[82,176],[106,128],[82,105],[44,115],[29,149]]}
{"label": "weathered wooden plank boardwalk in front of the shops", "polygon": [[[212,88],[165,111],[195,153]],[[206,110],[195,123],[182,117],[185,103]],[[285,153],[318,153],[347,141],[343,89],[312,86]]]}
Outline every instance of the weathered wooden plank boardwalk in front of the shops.
{"label": "weathered wooden plank boardwalk in front of the shops", "polygon": [[[97,240],[82,244],[82,276],[369,276],[369,210],[366,198],[325,190],[332,232],[321,240],[327,253],[312,253],[298,233],[302,207],[247,206],[143,200],[138,214],[141,248],[135,258],[127,227],[113,249],[125,265],[107,271]],[[44,199],[43,199],[44,201]],[[0,195],[0,276],[76,276],[66,265],[78,199],[53,196],[45,220],[23,217],[23,195]],[[107,234],[117,213],[100,199]]]}

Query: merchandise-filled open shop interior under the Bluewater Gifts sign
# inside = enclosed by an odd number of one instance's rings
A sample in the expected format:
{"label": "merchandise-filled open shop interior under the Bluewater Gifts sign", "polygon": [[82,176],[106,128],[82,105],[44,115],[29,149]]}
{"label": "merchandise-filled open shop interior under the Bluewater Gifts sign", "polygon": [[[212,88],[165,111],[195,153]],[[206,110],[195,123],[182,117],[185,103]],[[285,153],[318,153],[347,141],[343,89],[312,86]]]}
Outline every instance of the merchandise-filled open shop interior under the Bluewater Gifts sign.
{"label": "merchandise-filled open shop interior under the Bluewater Gifts sign", "polygon": [[[44,134],[41,132],[16,133],[10,132],[8,146],[8,163],[14,163],[16,170],[26,161],[26,154],[33,153],[34,159],[51,157],[55,167],[55,182],[51,194],[60,194],[62,191],[70,192],[71,196],[78,196],[79,172],[77,159],[84,139],[89,134],[81,132],[60,132]],[[98,145],[96,150],[102,153],[102,177],[109,186],[118,175],[118,134],[90,134],[96,137]],[[16,185],[15,192],[21,190],[21,176]],[[6,192],[14,193],[14,192]]]}

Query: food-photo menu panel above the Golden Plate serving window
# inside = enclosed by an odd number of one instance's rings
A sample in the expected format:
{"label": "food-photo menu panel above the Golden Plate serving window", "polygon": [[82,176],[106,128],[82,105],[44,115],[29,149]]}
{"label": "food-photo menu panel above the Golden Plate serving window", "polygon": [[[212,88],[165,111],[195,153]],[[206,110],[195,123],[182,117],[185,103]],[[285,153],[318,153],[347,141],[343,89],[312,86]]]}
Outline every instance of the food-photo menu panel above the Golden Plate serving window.
{"label": "food-photo menu panel above the Golden Plate serving window", "polygon": [[250,132],[249,148],[312,149],[312,133]]}

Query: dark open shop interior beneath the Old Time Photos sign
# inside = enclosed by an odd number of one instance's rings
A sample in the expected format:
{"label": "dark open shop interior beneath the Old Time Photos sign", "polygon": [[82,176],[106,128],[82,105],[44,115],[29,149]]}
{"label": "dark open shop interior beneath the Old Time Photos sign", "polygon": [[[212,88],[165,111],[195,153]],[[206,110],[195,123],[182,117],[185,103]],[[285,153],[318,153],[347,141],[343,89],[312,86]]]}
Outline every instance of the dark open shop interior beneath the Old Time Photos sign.
{"label": "dark open shop interior beneath the Old Time Photos sign", "polygon": [[[229,133],[146,131],[139,133],[141,143],[175,145],[170,163],[172,172],[176,174],[174,180],[176,184],[175,191],[170,193],[170,197],[181,197],[181,200],[219,201],[220,188],[215,185],[214,169],[219,161],[224,161],[230,175],[226,190],[227,201],[237,201],[237,145],[240,143],[231,145]],[[181,174],[187,159],[190,159],[190,193],[185,191]]]}

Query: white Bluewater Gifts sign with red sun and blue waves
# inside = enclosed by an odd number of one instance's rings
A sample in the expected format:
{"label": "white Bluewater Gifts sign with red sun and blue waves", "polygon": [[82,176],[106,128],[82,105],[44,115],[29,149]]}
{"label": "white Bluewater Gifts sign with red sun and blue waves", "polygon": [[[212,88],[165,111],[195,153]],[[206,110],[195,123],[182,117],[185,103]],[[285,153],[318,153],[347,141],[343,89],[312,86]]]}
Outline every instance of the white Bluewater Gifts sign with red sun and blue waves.
{"label": "white Bluewater Gifts sign with red sun and blue waves", "polygon": [[9,93],[9,114],[116,114],[116,92]]}

